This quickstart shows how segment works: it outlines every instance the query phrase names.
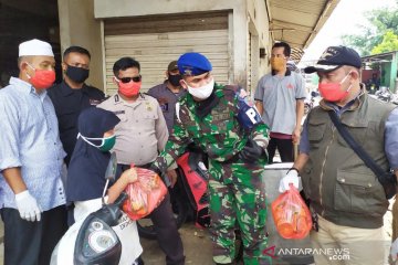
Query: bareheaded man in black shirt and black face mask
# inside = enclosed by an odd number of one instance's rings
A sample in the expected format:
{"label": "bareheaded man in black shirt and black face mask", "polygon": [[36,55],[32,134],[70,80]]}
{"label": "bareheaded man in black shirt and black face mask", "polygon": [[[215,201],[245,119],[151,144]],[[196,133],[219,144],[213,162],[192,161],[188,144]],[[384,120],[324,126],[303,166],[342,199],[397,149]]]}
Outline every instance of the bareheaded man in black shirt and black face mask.
{"label": "bareheaded man in black shirt and black face mask", "polygon": [[84,82],[90,73],[91,55],[81,46],[70,46],[63,54],[62,70],[64,80],[49,89],[49,96],[55,107],[60,126],[60,138],[67,153],[65,163],[69,165],[76,145],[77,117],[80,113],[100,104],[105,95],[98,88]]}

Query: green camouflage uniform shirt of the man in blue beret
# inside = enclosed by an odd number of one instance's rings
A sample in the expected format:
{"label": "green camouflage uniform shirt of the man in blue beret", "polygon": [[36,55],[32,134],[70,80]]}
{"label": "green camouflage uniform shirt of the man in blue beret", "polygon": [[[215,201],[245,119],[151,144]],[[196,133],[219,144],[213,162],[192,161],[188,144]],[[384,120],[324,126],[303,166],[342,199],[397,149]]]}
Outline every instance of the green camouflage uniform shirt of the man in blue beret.
{"label": "green camouflage uniform shirt of the man in blue beret", "polygon": [[[237,116],[238,97],[235,92],[223,85],[214,85],[217,105],[205,117],[199,118],[197,106],[190,94],[179,99],[180,109],[166,148],[157,158],[155,166],[165,170],[175,159],[184,153],[188,144],[193,141],[209,156],[210,163],[224,163],[238,155],[252,138],[264,149],[269,141],[269,127],[261,123],[252,131],[244,132]],[[265,161],[264,161],[265,163]]]}

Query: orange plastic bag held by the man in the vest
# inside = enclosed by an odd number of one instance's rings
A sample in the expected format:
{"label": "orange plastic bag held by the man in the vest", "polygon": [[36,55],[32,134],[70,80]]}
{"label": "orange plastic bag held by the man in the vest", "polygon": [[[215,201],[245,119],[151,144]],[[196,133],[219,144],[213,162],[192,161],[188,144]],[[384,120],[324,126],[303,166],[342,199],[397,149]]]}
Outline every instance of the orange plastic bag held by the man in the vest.
{"label": "orange plastic bag held by the man in the vest", "polygon": [[301,240],[308,235],[312,229],[311,212],[292,184],[290,190],[271,203],[271,210],[276,231],[283,239]]}

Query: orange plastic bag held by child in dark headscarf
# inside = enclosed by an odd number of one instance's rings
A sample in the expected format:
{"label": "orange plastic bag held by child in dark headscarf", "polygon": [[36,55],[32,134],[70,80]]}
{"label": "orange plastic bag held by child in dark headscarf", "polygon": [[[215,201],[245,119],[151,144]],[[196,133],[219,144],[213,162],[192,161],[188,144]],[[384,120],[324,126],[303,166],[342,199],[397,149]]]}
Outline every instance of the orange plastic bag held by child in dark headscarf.
{"label": "orange plastic bag held by child in dark headscarf", "polygon": [[151,213],[167,194],[167,188],[157,173],[142,168],[136,168],[136,170],[138,180],[126,187],[128,199],[123,204],[123,211],[132,220],[138,220]]}

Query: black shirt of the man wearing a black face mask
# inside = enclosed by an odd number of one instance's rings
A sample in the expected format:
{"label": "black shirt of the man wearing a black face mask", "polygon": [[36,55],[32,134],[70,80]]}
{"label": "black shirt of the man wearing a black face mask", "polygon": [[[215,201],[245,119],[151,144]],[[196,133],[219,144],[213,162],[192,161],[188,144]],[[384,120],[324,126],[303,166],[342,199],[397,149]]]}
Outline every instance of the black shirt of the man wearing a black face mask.
{"label": "black shirt of the man wearing a black face mask", "polygon": [[48,93],[55,108],[60,138],[67,153],[65,162],[69,165],[76,145],[77,117],[80,113],[87,107],[100,104],[105,99],[105,94],[98,88],[85,84],[81,89],[73,89],[65,81],[51,87]]}

